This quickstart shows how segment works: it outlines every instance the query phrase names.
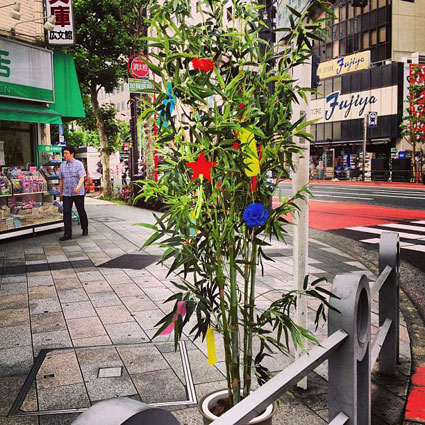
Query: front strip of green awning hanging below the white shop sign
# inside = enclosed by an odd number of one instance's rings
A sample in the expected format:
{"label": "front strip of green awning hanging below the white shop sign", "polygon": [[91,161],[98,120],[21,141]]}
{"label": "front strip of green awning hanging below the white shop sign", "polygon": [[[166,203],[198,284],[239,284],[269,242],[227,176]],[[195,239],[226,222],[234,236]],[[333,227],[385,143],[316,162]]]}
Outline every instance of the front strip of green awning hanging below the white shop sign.
{"label": "front strip of green awning hanging below the white shop sign", "polygon": [[22,102],[18,100],[0,100],[0,120],[20,121],[44,124],[62,124],[60,114],[50,104]]}

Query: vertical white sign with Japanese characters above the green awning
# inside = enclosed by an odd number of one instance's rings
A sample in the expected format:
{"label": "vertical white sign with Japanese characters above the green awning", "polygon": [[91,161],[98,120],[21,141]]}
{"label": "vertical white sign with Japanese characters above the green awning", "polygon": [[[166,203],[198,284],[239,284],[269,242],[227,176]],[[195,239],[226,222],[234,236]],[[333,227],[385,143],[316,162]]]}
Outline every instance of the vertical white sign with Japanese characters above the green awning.
{"label": "vertical white sign with Japanese characters above the green awning", "polygon": [[47,16],[55,17],[55,28],[47,31],[48,43],[67,46],[75,43],[72,0],[45,0]]}

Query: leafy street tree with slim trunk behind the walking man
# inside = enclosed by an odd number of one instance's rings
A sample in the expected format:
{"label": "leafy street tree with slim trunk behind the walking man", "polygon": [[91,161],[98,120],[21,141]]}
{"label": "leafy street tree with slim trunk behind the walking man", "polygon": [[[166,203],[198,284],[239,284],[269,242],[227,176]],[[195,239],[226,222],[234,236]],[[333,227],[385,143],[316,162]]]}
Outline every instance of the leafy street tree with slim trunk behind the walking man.
{"label": "leafy street tree with slim trunk behind the walking man", "polygon": [[82,92],[90,99],[95,128],[99,135],[103,165],[104,192],[112,196],[109,167],[111,141],[108,123],[98,102],[99,90],[107,92],[126,77],[127,56],[141,49],[146,0],[75,0],[76,44],[69,48],[74,56]]}

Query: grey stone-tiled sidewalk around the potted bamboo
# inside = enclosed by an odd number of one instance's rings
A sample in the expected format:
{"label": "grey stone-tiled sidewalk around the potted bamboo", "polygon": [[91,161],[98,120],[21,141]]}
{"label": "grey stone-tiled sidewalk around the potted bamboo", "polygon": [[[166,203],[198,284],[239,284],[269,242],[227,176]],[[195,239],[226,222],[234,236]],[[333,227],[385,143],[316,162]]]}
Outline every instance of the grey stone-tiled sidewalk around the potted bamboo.
{"label": "grey stone-tiled sidewalk around the potted bamboo", "polygon": [[[151,231],[134,224],[153,222],[152,213],[95,199],[87,199],[87,212],[88,237],[74,228],[75,239],[65,243],[58,241],[61,233],[50,233],[0,246],[0,425],[70,424],[76,412],[116,396],[167,402],[182,424],[201,424],[188,389],[193,386],[200,399],[225,386],[223,347],[216,338],[218,363],[209,367],[201,341],[187,340],[178,352],[168,336],[151,341],[154,325],[171,307],[163,301],[172,295],[171,279],[176,279],[156,265],[160,250],[149,248],[143,253],[148,256],[139,252]],[[267,253],[275,262],[265,264],[257,288],[265,304],[276,292],[293,288],[291,238],[288,245],[273,243]],[[125,254],[133,256],[119,258]],[[329,282],[338,273],[364,271],[343,252],[317,241],[310,241],[309,254],[309,273]],[[374,334],[377,310],[373,302]],[[312,309],[309,315],[312,322]],[[410,344],[401,322],[397,377],[388,381],[373,374],[373,424],[402,422]],[[319,328],[319,339],[326,335],[326,327]],[[186,354],[191,376],[182,367]],[[279,371],[292,361],[279,355],[269,366]],[[34,379],[16,402],[30,372]],[[307,391],[285,395],[273,423],[326,424],[326,377],[322,365],[309,375]],[[6,417],[14,402],[24,416]]]}

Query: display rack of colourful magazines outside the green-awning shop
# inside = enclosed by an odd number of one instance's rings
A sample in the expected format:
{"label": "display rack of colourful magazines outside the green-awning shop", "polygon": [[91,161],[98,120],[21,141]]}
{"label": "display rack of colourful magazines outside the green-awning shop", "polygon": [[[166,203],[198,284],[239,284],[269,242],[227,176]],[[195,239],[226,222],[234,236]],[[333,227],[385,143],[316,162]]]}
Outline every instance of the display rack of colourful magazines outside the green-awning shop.
{"label": "display rack of colourful magazines outside the green-awning shop", "polygon": [[63,226],[60,204],[36,167],[0,172],[0,240]]}

